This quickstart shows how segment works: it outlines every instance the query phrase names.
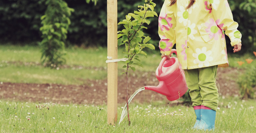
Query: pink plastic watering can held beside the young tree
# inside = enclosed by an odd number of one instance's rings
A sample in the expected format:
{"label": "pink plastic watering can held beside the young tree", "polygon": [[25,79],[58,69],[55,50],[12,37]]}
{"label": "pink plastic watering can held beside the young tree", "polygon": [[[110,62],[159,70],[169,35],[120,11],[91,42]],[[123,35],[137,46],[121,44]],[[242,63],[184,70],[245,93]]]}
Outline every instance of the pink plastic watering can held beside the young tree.
{"label": "pink plastic watering can held beside the young tree", "polygon": [[[177,51],[172,49],[171,54]],[[167,97],[168,100],[177,100],[183,96],[188,86],[185,80],[185,74],[179,68],[179,62],[176,57],[171,57],[170,61],[166,61],[164,57],[156,69],[156,78],[159,80],[158,86],[145,86],[145,89],[153,90]]]}

